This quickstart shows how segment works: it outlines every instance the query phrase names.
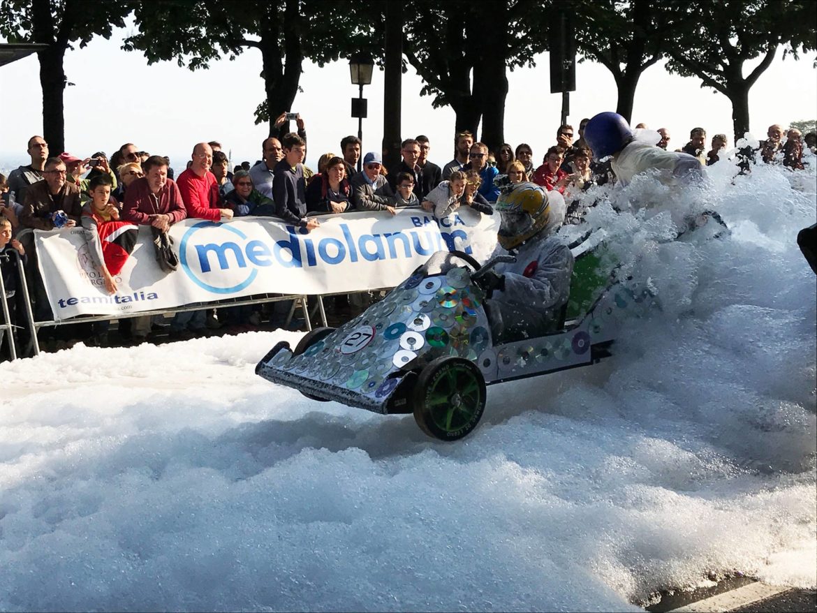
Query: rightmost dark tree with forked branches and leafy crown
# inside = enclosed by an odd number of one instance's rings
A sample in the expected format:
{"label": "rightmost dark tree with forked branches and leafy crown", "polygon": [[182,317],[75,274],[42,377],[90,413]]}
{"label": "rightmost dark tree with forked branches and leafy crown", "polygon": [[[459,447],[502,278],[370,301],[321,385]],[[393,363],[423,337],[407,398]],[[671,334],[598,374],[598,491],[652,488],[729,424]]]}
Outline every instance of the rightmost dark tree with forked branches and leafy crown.
{"label": "rightmost dark tree with forked branches and leafy crown", "polygon": [[[698,77],[732,101],[734,136],[749,129],[748,92],[783,47],[784,57],[817,49],[817,2],[722,0],[667,2],[675,36],[667,68]],[[760,60],[744,76],[744,65]]]}

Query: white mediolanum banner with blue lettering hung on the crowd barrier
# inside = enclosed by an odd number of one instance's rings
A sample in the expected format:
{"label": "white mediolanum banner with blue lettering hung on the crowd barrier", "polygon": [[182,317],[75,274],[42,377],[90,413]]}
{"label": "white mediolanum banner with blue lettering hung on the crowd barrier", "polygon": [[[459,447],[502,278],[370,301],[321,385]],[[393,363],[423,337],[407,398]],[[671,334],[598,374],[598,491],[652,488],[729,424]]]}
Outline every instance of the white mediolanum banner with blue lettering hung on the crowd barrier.
{"label": "white mediolanum banner with blue lettering hung on the crowd barrier", "polygon": [[81,228],[35,230],[38,264],[56,320],[181,307],[263,293],[318,294],[394,287],[440,250],[484,262],[497,244],[499,215],[461,208],[435,220],[419,208],[319,217],[309,233],[270,217],[171,227],[177,271],[156,262],[150,227],[105,292]]}

